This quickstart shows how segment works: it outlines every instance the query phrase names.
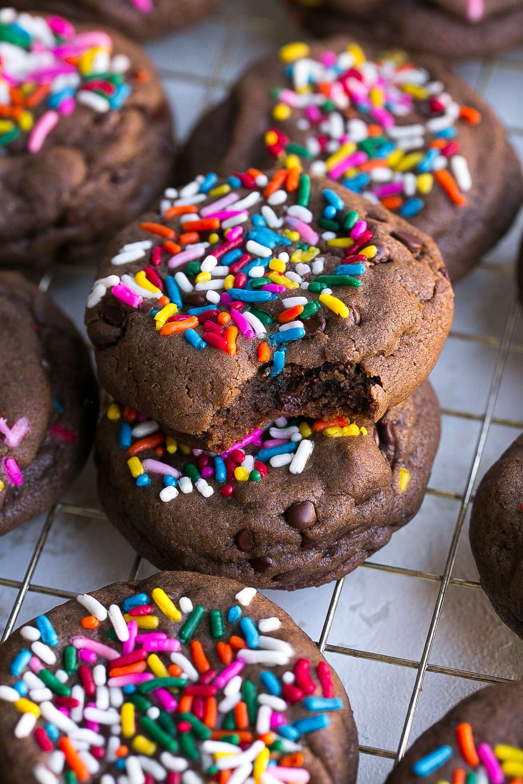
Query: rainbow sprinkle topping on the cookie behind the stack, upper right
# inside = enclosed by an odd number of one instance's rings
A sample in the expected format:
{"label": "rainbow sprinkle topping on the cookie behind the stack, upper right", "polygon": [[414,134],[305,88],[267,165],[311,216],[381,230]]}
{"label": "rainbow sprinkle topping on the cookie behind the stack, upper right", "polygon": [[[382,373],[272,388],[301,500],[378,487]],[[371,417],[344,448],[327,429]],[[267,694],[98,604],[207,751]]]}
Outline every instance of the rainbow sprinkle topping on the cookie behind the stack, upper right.
{"label": "rainbow sprinkle topping on the cookie behind the stack, upper right", "polygon": [[460,106],[445,84],[403,53],[367,60],[357,44],[314,59],[306,43],[280,50],[273,125],[264,143],[278,163],[340,180],[410,218],[441,189],[456,207],[472,187],[459,125],[481,114]]}

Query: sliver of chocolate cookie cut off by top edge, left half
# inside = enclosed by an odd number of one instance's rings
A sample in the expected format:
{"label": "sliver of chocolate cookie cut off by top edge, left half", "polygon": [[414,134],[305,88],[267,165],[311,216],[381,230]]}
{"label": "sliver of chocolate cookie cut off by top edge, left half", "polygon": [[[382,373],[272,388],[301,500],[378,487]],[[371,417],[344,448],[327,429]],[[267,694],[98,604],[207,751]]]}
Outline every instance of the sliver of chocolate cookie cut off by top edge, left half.
{"label": "sliver of chocolate cookie cut off by top edge, left half", "polygon": [[89,24],[110,24],[132,38],[158,38],[194,24],[221,0],[14,0],[23,11],[63,13]]}

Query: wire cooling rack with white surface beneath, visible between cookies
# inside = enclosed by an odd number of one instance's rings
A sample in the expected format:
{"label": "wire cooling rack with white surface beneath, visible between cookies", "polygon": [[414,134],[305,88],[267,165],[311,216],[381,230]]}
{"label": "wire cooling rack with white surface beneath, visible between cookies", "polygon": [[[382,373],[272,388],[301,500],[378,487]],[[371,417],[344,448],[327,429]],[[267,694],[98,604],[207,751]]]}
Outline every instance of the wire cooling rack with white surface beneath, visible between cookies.
{"label": "wire cooling rack with white surface beneath, visible between cookies", "polygon": [[[246,64],[296,37],[278,0],[236,0],[150,45],[177,135]],[[493,104],[523,157],[523,50],[458,70]],[[347,688],[361,742],[358,784],[383,782],[409,742],[471,691],[523,674],[523,644],[481,591],[467,537],[474,488],[523,429],[513,277],[521,223],[456,286],[454,327],[431,376],[443,433],[419,514],[338,583],[267,592],[318,641]],[[93,273],[93,265],[56,266],[38,281],[81,329]],[[2,639],[59,600],[154,571],[107,524],[90,463],[60,503],[0,540]]]}

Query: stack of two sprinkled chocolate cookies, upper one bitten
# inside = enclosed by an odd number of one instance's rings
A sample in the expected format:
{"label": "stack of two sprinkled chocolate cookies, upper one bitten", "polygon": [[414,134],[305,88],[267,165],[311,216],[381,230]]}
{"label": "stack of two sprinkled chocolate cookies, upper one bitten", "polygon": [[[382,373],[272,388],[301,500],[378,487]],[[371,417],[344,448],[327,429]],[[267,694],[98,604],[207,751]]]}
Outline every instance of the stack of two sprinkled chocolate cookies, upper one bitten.
{"label": "stack of two sprinkled chocolate cookies, upper one bitten", "polygon": [[165,568],[350,572],[423,499],[452,302],[432,239],[298,167],[168,189],[87,303],[108,517]]}

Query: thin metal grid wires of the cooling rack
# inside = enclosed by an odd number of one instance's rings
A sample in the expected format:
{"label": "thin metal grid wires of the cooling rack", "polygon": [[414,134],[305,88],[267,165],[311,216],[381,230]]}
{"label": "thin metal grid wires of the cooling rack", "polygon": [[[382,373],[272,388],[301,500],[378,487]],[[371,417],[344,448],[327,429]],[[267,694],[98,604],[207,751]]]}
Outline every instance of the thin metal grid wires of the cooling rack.
{"label": "thin metal grid wires of the cooling rack", "polygon": [[[227,62],[231,56],[231,47],[237,41],[238,35],[248,32],[249,34],[256,33],[267,37],[267,39],[274,38],[277,41],[281,40],[282,34],[289,37],[289,31],[282,31],[279,24],[271,19],[270,10],[267,16],[257,13],[256,3],[253,5],[256,9],[255,13],[250,16],[242,13],[242,6],[234,4],[228,6],[220,16],[219,22],[225,27],[225,34],[223,42],[220,46],[220,51],[216,57],[216,62],[212,68],[212,73],[207,76],[199,76],[185,72],[180,69],[170,69],[161,67],[160,72],[165,82],[169,80],[176,80],[177,82],[187,82],[189,85],[199,85],[204,89],[202,99],[202,110],[209,103],[212,102],[216,90],[227,87],[228,80],[224,76],[224,71]],[[267,13],[267,12],[266,12]],[[478,89],[481,93],[486,93],[494,67],[499,63],[497,60],[485,60],[481,64],[481,75],[478,82]],[[523,53],[521,58],[510,60],[503,60],[503,67],[509,69],[516,69],[518,73],[523,75]],[[523,85],[523,79],[521,80]],[[523,87],[521,89],[521,97],[523,98]],[[523,138],[523,118],[521,128],[510,128],[510,133],[513,136]],[[480,269],[488,270],[489,273],[509,276],[512,274],[512,262],[509,263],[481,263]],[[57,273],[78,276],[78,275],[93,275],[94,267],[54,267],[49,272],[46,272],[42,279],[39,281],[39,286],[42,291],[46,291],[51,285],[54,276]],[[430,487],[427,491],[428,495],[433,495],[441,499],[452,499],[459,503],[458,514],[456,515],[456,523],[454,524],[452,539],[446,553],[445,566],[441,573],[420,571],[412,568],[405,568],[398,565],[387,564],[385,562],[368,561],[361,568],[368,570],[375,570],[378,572],[388,572],[394,575],[402,575],[406,578],[418,581],[428,581],[435,583],[438,586],[438,593],[436,595],[430,623],[427,629],[427,635],[423,641],[423,651],[419,659],[406,659],[398,656],[387,655],[382,652],[372,652],[360,650],[358,648],[350,648],[346,645],[330,644],[329,634],[332,630],[332,625],[336,617],[336,611],[340,607],[340,597],[342,596],[344,579],[340,580],[332,587],[332,595],[330,597],[329,608],[325,615],[321,634],[318,639],[318,647],[321,652],[327,654],[337,654],[354,659],[367,659],[370,662],[381,662],[385,665],[397,666],[412,670],[415,673],[412,691],[409,697],[409,706],[405,712],[403,724],[401,728],[401,735],[398,746],[394,749],[380,748],[375,746],[361,746],[361,752],[364,754],[372,755],[374,757],[385,757],[389,760],[401,759],[409,743],[409,738],[412,731],[412,724],[416,715],[416,709],[419,702],[419,696],[423,689],[423,681],[427,673],[438,673],[450,677],[464,679],[467,681],[476,681],[479,684],[488,684],[496,682],[505,682],[509,679],[500,677],[495,674],[481,673],[474,670],[462,669],[459,667],[442,666],[431,662],[430,654],[433,649],[434,640],[438,630],[438,622],[441,619],[441,612],[445,604],[445,598],[448,595],[449,587],[456,586],[459,590],[478,591],[481,590],[479,584],[470,579],[461,579],[454,575],[454,568],[456,564],[456,556],[458,554],[459,544],[463,535],[463,527],[467,517],[467,510],[469,509],[471,500],[473,498],[474,482],[478,477],[478,469],[480,466],[481,456],[485,450],[485,443],[489,429],[492,425],[499,425],[503,427],[523,429],[523,419],[495,416],[496,401],[499,394],[500,385],[503,381],[503,373],[507,365],[507,358],[510,353],[521,354],[523,352],[523,343],[521,338],[518,339],[518,328],[520,328],[520,307],[518,306],[515,292],[513,292],[513,300],[510,308],[507,311],[507,318],[503,328],[502,336],[495,335],[476,335],[469,332],[459,332],[458,330],[452,331],[452,338],[459,342],[479,343],[484,350],[487,348],[496,350],[496,361],[493,367],[492,376],[490,378],[490,385],[488,389],[488,397],[486,401],[485,410],[482,413],[456,410],[451,408],[442,409],[442,414],[445,417],[455,417],[458,419],[469,419],[479,423],[480,430],[474,445],[474,452],[470,464],[468,466],[467,482],[463,492],[456,492],[452,488],[437,488]],[[523,331],[520,329],[520,335]],[[8,579],[0,574],[0,588],[2,586],[16,590],[16,597],[13,601],[12,607],[9,612],[5,629],[2,635],[2,641],[13,631],[16,622],[19,619],[20,611],[23,607],[28,593],[40,593],[50,597],[56,597],[57,600],[67,600],[74,597],[76,594],[67,590],[56,589],[52,586],[46,586],[35,582],[35,572],[38,562],[44,552],[46,543],[48,542],[49,535],[52,532],[53,524],[60,514],[69,514],[74,517],[90,517],[97,519],[104,519],[104,514],[98,508],[89,508],[86,506],[75,505],[74,503],[66,503],[61,501],[53,506],[45,517],[42,528],[39,532],[38,539],[36,540],[34,550],[32,550],[30,561],[28,562],[26,572],[21,579]],[[141,559],[136,555],[133,562],[133,567],[130,570],[129,579],[135,579],[140,571]],[[414,608],[415,609],[415,608]],[[523,668],[523,662],[522,662]],[[523,676],[523,669],[518,673],[518,677]],[[350,695],[350,690],[349,690]]]}

